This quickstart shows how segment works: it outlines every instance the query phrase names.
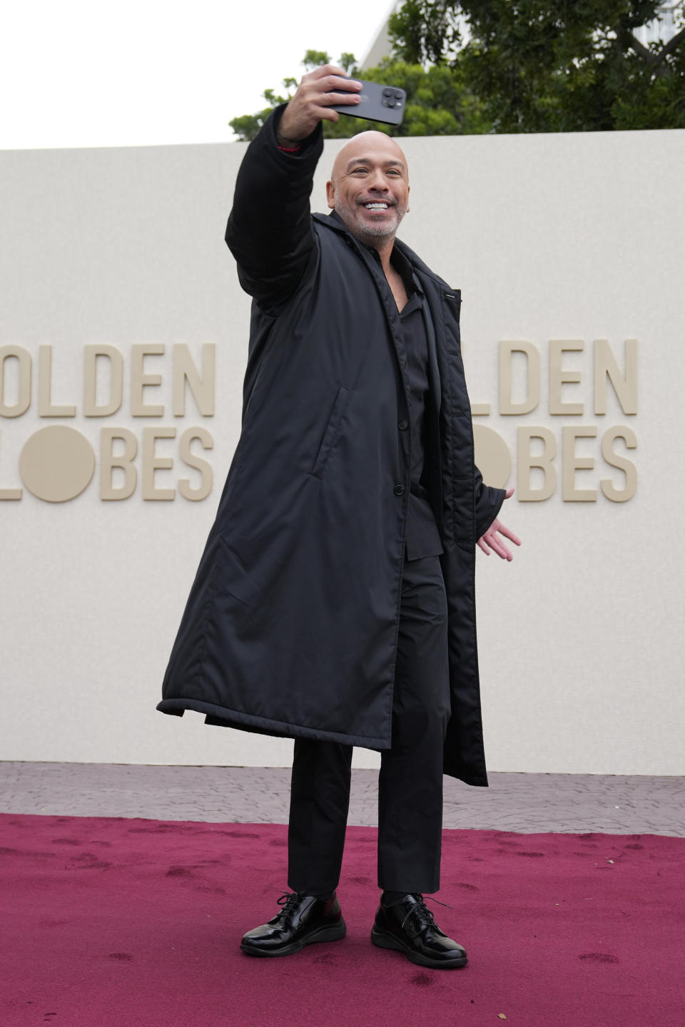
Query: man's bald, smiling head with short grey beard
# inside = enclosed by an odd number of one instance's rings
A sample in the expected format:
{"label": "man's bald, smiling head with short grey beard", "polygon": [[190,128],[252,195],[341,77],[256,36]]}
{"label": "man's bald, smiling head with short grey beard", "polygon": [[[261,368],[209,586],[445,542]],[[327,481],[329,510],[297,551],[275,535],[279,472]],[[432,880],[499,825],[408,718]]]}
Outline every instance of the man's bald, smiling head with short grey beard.
{"label": "man's bald, smiling head with short grey beard", "polygon": [[407,159],[389,136],[360,132],[336,157],[326,194],[361,242],[390,242],[409,210]]}

